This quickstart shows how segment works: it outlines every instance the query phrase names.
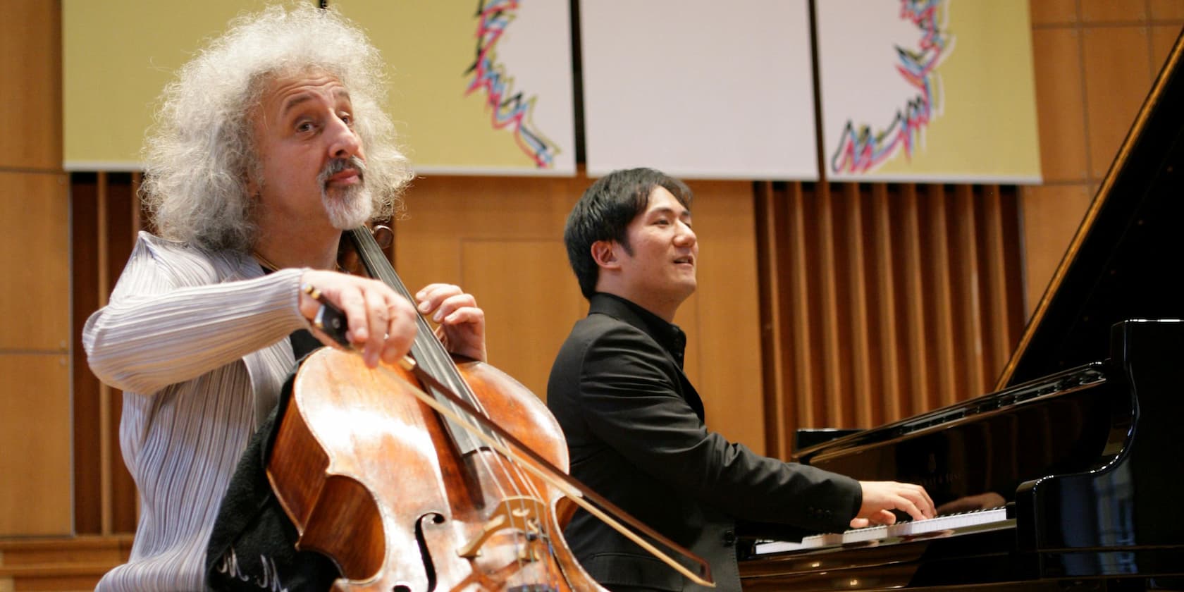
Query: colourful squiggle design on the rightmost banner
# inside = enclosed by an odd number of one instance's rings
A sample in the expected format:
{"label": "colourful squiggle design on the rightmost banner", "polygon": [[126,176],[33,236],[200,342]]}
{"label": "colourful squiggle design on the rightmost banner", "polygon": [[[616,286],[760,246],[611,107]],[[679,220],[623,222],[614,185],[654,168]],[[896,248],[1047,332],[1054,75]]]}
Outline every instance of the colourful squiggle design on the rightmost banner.
{"label": "colourful squiggle design on the rightmost banner", "polygon": [[888,160],[897,149],[903,148],[910,157],[913,149],[921,140],[925,127],[941,110],[940,97],[937,96],[937,67],[948,56],[953,36],[938,25],[938,15],[948,15],[948,0],[900,0],[900,18],[916,25],[922,37],[920,51],[896,46],[900,63],[896,71],[916,88],[918,95],[896,110],[892,123],[881,131],[871,133],[871,127],[851,120],[843,127],[838,149],[830,160],[835,173],[863,173]]}

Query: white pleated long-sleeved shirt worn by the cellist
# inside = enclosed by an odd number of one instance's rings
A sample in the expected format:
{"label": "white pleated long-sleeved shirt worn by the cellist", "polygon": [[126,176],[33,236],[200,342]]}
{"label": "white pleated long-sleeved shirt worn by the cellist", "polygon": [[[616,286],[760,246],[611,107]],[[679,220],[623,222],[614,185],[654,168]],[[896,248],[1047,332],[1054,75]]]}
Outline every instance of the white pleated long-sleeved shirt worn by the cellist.
{"label": "white pleated long-sleeved shirt worn by the cellist", "polygon": [[264,275],[243,253],[212,253],[141,232],[83,347],[123,391],[120,445],[140,500],[131,555],[101,592],[199,591],[221,496],[294,365],[307,328],[304,270]]}

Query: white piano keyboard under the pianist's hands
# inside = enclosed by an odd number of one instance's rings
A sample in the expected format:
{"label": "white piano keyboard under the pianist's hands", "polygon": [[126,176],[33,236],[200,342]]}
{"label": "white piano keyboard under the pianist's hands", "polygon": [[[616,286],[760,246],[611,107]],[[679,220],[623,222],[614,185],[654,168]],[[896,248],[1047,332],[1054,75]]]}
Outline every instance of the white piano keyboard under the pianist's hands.
{"label": "white piano keyboard under the pianist's hands", "polygon": [[845,533],[824,533],[805,536],[802,542],[793,541],[757,541],[753,552],[757,555],[770,553],[784,553],[787,551],[805,551],[838,545],[850,545],[864,541],[879,541],[884,539],[900,539],[915,536],[919,534],[934,533],[939,530],[953,530],[983,525],[1003,525],[1008,521],[1006,508],[992,508],[989,510],[964,511],[959,514],[947,514],[928,520],[910,520],[897,522],[890,526],[871,526],[856,528]]}

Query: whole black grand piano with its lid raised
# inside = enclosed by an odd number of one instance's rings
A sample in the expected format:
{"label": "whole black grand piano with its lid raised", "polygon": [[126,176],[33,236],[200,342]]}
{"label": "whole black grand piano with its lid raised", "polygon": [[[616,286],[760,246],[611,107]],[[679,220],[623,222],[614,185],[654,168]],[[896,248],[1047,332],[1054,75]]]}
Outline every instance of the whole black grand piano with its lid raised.
{"label": "whole black grand piano with its lid raised", "polygon": [[800,540],[755,529],[746,591],[1184,590],[1182,52],[1184,36],[998,391],[796,455],[921,483],[942,515]]}

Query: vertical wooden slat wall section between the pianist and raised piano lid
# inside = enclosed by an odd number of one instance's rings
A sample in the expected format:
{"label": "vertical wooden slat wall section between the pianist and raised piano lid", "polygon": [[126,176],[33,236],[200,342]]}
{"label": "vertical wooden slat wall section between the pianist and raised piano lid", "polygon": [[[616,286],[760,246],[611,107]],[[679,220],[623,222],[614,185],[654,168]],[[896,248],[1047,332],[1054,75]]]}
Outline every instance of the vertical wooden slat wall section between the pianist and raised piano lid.
{"label": "vertical wooden slat wall section between the pianist and raised piano lid", "polygon": [[1017,189],[757,184],[766,448],[985,394],[1024,323]]}

